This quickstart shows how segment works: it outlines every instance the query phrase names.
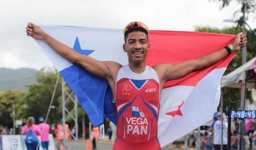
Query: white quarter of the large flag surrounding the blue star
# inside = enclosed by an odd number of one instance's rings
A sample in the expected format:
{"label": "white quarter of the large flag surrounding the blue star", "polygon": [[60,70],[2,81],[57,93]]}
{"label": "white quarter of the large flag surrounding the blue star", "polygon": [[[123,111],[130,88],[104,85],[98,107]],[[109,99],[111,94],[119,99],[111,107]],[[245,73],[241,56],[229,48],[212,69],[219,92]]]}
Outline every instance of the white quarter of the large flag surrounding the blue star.
{"label": "white quarter of the large flag surrounding the blue star", "polygon": [[[89,56],[97,60],[112,60],[120,64],[128,63],[126,53],[123,51],[124,34],[120,29],[71,28],[62,26],[40,27],[54,39],[71,48],[73,48],[75,39],[78,37],[82,49],[95,50]],[[51,50],[43,41],[36,41],[58,71],[73,65],[59,56],[54,50]]]}

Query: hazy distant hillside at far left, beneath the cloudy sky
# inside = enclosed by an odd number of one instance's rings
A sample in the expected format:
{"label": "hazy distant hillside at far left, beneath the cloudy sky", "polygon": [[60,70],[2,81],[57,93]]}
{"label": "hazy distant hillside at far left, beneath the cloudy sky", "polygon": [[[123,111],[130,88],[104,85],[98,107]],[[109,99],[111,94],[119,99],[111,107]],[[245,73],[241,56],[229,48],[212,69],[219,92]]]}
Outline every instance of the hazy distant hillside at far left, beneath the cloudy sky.
{"label": "hazy distant hillside at far left, beneath the cloudy sky", "polygon": [[0,91],[21,89],[28,91],[26,85],[37,84],[37,70],[29,68],[8,69],[0,68]]}

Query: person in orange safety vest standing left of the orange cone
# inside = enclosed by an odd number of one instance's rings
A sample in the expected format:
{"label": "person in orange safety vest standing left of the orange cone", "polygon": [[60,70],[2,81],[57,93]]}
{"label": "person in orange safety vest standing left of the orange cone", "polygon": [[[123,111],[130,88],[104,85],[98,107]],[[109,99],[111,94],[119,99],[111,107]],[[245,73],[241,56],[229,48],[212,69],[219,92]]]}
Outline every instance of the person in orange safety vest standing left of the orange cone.
{"label": "person in orange safety vest standing left of the orange cone", "polygon": [[[57,138],[57,150],[60,150],[61,145],[63,145],[63,129],[65,129],[65,139],[69,140],[69,125],[65,124],[65,128],[62,127],[62,122],[63,120],[60,119],[60,123],[57,124],[57,133],[56,133],[56,138]],[[67,146],[66,146],[67,147]]]}

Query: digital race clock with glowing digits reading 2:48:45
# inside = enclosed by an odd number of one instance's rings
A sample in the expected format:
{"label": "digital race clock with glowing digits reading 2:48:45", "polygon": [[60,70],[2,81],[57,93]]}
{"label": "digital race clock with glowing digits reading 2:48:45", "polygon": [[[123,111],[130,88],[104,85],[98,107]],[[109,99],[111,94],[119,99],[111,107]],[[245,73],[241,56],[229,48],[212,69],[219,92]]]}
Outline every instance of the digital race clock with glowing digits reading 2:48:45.
{"label": "digital race clock with glowing digits reading 2:48:45", "polygon": [[232,110],[231,111],[231,119],[233,118],[256,118],[255,110]]}

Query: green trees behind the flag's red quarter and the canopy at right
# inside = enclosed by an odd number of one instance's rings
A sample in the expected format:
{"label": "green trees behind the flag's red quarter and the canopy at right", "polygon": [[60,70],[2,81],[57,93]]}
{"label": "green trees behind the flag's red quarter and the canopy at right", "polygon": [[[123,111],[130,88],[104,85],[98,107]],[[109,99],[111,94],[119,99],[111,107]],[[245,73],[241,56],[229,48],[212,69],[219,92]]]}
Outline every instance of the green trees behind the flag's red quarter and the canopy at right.
{"label": "green trees behind the flag's red quarter and the canopy at right", "polygon": [[[210,27],[196,27],[195,31],[198,32],[211,32],[211,33],[222,33],[222,34],[237,34],[241,32],[241,28],[232,27],[232,28],[224,28],[224,29],[217,29],[217,28],[210,28]],[[252,59],[256,56],[255,49],[256,47],[256,37],[252,34],[251,31],[247,30],[247,60]],[[227,75],[231,71],[235,70],[239,66],[242,65],[242,51],[238,51],[237,56],[229,63],[226,72],[224,75]],[[236,107],[240,107],[240,89],[237,88],[224,88],[223,90],[223,104],[226,106],[229,102],[234,101],[236,102]],[[251,90],[246,90],[246,98],[252,102],[252,95]]]}

